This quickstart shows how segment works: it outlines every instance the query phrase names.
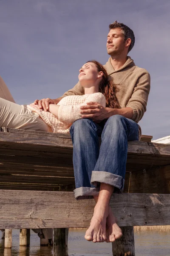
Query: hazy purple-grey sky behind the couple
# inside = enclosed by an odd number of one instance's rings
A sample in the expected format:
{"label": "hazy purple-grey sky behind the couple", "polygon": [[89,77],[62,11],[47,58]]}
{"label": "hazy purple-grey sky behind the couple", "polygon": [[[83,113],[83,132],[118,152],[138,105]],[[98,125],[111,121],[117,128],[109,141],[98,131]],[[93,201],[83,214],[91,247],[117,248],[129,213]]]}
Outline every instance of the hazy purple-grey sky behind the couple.
{"label": "hazy purple-grey sky behind the couple", "polygon": [[129,52],[151,76],[142,134],[170,135],[169,0],[0,0],[0,76],[18,104],[57,98],[89,59],[105,64],[108,26],[136,37]]}

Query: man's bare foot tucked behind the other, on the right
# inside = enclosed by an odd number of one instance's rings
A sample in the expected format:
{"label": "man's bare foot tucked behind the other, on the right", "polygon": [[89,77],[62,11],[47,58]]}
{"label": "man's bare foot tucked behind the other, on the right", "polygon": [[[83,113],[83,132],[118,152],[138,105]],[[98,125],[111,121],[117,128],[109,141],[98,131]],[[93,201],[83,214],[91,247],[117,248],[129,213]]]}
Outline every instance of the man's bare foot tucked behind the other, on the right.
{"label": "man's bare foot tucked behind the other, on the right", "polygon": [[122,237],[122,230],[117,225],[117,219],[113,215],[111,207],[109,207],[109,215],[106,222],[106,242],[114,242]]}

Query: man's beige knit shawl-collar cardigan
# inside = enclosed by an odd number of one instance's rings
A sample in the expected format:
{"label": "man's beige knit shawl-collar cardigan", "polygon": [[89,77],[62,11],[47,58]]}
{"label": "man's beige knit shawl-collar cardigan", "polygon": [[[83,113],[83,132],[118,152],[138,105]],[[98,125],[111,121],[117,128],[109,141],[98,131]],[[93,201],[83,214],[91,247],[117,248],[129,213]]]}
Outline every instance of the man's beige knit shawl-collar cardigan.
{"label": "man's beige knit shawl-collar cardigan", "polygon": [[[120,107],[132,108],[132,120],[139,122],[146,111],[147,99],[150,92],[149,73],[147,70],[137,67],[129,56],[123,67],[119,70],[114,70],[111,64],[111,58],[109,58],[104,67],[116,85],[116,97]],[[71,90],[65,92],[62,97],[83,94],[84,88],[78,82]]]}

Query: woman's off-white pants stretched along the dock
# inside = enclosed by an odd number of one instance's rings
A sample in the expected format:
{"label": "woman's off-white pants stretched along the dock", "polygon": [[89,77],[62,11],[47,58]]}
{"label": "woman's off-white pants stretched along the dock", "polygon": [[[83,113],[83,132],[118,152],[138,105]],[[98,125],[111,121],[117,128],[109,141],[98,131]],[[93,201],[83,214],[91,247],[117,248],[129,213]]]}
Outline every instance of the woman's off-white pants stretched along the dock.
{"label": "woman's off-white pants stretched along the dock", "polygon": [[0,77],[0,127],[51,131],[39,116],[24,105],[15,103],[8,87]]}

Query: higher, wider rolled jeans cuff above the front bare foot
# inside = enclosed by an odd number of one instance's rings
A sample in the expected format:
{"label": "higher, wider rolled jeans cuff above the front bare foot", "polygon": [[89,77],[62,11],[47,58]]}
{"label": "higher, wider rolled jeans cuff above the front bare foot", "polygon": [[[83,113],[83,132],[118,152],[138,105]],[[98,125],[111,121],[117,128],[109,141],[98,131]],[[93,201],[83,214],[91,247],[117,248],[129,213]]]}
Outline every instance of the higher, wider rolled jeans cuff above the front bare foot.
{"label": "higher, wider rolled jeans cuff above the front bare foot", "polygon": [[114,186],[114,192],[123,192],[125,180],[122,176],[111,172],[92,171],[91,184],[98,187],[99,183],[106,183]]}

